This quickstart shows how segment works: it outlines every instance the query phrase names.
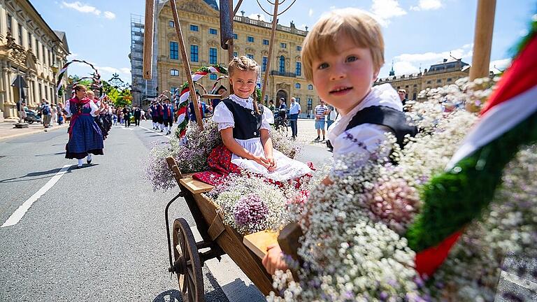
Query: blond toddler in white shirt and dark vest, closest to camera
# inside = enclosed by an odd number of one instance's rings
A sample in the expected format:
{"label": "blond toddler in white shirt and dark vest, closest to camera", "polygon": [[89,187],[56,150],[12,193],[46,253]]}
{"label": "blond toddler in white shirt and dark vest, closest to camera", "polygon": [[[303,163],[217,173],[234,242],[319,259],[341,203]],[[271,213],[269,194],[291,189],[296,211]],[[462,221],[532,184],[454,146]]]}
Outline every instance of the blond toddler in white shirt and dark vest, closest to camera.
{"label": "blond toddler in white shirt and dark vest, closest to camera", "polygon": [[[380,25],[366,12],[345,8],[321,17],[303,41],[301,59],[306,80],[340,115],[329,130],[334,159],[377,152],[386,132],[395,134],[400,145],[405,134],[415,134],[395,89],[373,87],[384,64],[384,40]],[[278,245],[267,247],[262,263],[270,274],[287,269]]]}

